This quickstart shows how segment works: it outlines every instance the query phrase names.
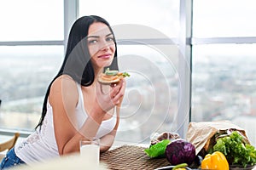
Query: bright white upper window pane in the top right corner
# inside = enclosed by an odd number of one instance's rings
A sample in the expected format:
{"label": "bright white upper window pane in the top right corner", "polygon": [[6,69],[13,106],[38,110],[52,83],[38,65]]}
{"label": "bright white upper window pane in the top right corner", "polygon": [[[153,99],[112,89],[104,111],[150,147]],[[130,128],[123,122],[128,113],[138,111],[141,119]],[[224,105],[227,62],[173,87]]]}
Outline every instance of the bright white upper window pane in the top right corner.
{"label": "bright white upper window pane in the top right corner", "polygon": [[256,1],[194,0],[194,37],[255,37]]}

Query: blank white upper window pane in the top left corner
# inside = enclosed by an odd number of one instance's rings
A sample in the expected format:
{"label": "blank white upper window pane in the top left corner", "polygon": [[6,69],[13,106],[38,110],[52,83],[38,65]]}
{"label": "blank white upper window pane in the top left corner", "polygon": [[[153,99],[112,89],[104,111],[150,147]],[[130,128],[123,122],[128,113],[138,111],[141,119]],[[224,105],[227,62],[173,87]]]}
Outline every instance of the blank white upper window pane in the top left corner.
{"label": "blank white upper window pane in the top left corner", "polygon": [[0,1],[0,41],[63,40],[63,0]]}

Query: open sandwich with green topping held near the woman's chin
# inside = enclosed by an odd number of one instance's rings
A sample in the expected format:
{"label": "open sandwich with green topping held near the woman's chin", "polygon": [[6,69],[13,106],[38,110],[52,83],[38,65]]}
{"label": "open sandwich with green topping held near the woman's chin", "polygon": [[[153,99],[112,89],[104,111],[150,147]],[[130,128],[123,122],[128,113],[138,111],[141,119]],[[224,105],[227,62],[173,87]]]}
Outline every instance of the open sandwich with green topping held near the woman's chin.
{"label": "open sandwich with green topping held near the woman's chin", "polygon": [[130,77],[130,74],[128,74],[127,72],[119,72],[116,70],[110,71],[108,68],[98,77],[98,82],[102,84],[118,83],[121,79],[125,77]]}

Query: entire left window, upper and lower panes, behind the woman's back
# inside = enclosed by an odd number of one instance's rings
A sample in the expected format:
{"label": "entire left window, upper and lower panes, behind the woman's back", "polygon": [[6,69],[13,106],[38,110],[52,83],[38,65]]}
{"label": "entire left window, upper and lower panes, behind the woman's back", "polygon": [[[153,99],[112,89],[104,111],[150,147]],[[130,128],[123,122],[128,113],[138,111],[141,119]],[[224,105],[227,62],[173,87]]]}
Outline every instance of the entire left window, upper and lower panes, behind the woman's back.
{"label": "entire left window, upper and lower panes, behind the woman's back", "polygon": [[0,128],[31,131],[63,58],[63,1],[5,0],[0,15]]}

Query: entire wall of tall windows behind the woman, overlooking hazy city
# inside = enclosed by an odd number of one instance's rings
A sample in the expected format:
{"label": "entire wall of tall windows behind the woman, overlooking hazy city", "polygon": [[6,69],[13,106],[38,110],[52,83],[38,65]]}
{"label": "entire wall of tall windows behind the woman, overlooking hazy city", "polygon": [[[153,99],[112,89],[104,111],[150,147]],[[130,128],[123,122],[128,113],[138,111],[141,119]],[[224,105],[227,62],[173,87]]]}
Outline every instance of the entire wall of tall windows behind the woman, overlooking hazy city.
{"label": "entire wall of tall windows behind the woman, overlooking hazy city", "polygon": [[[179,89],[190,81],[191,63],[192,83],[183,87],[191,90],[190,121],[230,120],[245,128],[256,145],[256,3],[194,0],[192,10],[188,2],[192,1],[1,1],[0,128],[36,126],[46,88],[64,56],[69,26],[79,16],[96,14],[113,26],[119,69],[131,73],[118,140],[148,142],[154,132],[183,128],[178,123],[189,113],[179,112]],[[191,58],[181,59],[187,49]],[[189,66],[180,67],[181,60]]]}

